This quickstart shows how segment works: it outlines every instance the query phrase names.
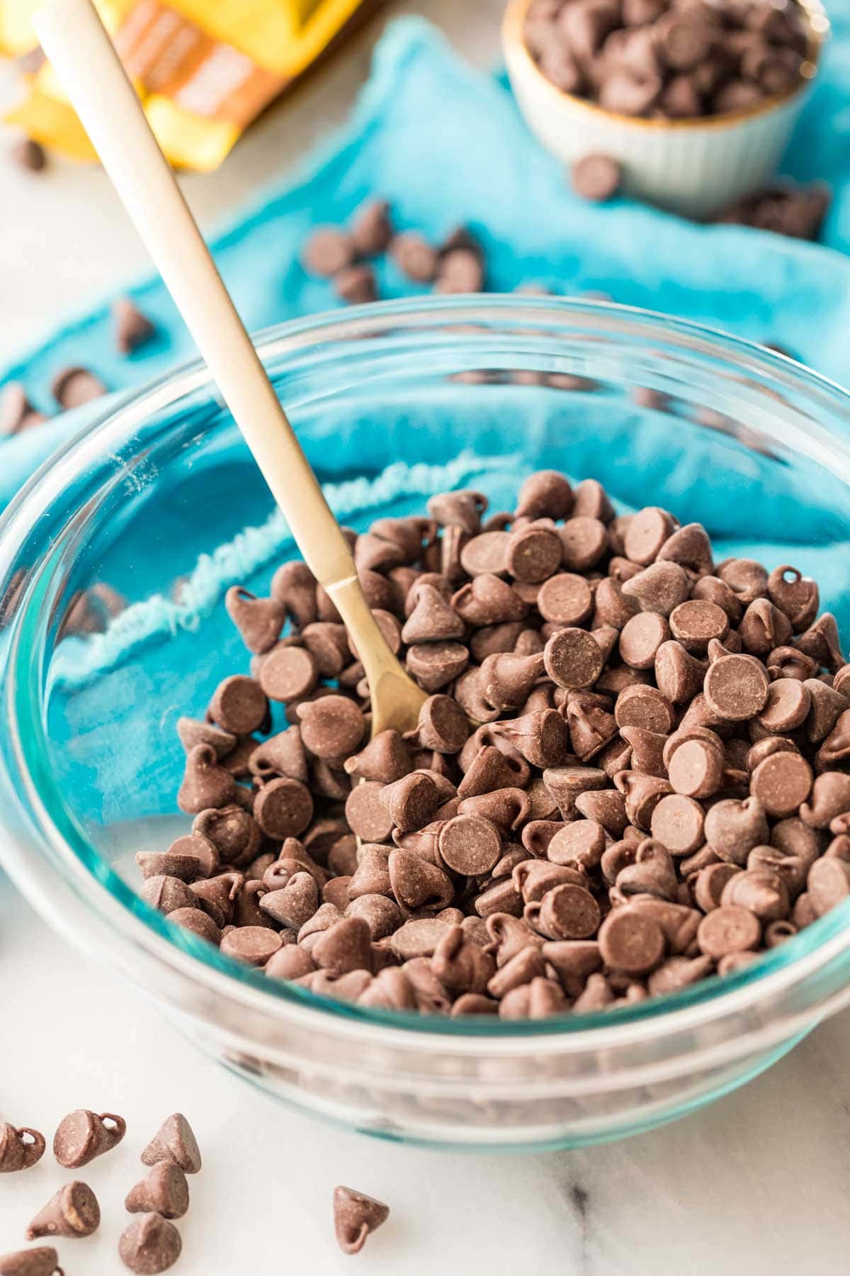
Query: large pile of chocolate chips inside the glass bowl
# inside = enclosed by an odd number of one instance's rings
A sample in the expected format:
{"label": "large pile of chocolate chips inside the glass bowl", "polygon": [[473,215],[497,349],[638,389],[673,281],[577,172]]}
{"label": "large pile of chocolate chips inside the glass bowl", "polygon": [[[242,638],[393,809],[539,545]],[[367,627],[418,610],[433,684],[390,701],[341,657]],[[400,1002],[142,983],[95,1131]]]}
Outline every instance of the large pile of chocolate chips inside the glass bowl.
{"label": "large pile of chocolate chips inside the glass bowl", "polygon": [[850,665],[816,582],[554,471],[486,509],[347,533],[428,693],[404,738],[370,740],[303,563],[229,591],[251,675],[178,723],[195,819],[138,856],[144,898],[315,993],[535,1018],[738,970],[850,894]]}

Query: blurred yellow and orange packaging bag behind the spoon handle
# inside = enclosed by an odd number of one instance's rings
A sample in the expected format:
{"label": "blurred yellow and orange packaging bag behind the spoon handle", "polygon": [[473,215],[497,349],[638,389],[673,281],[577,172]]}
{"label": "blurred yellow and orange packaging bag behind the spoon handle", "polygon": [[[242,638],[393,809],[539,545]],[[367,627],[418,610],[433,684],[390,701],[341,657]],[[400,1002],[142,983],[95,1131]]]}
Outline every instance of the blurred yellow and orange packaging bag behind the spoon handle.
{"label": "blurred yellow and orange packaging bag behind the spoon handle", "polygon": [[[41,0],[0,0],[0,54],[36,46]],[[96,0],[150,125],[177,167],[209,172],[249,124],[350,26],[367,0]],[[75,160],[94,160],[48,63],[5,116]]]}

